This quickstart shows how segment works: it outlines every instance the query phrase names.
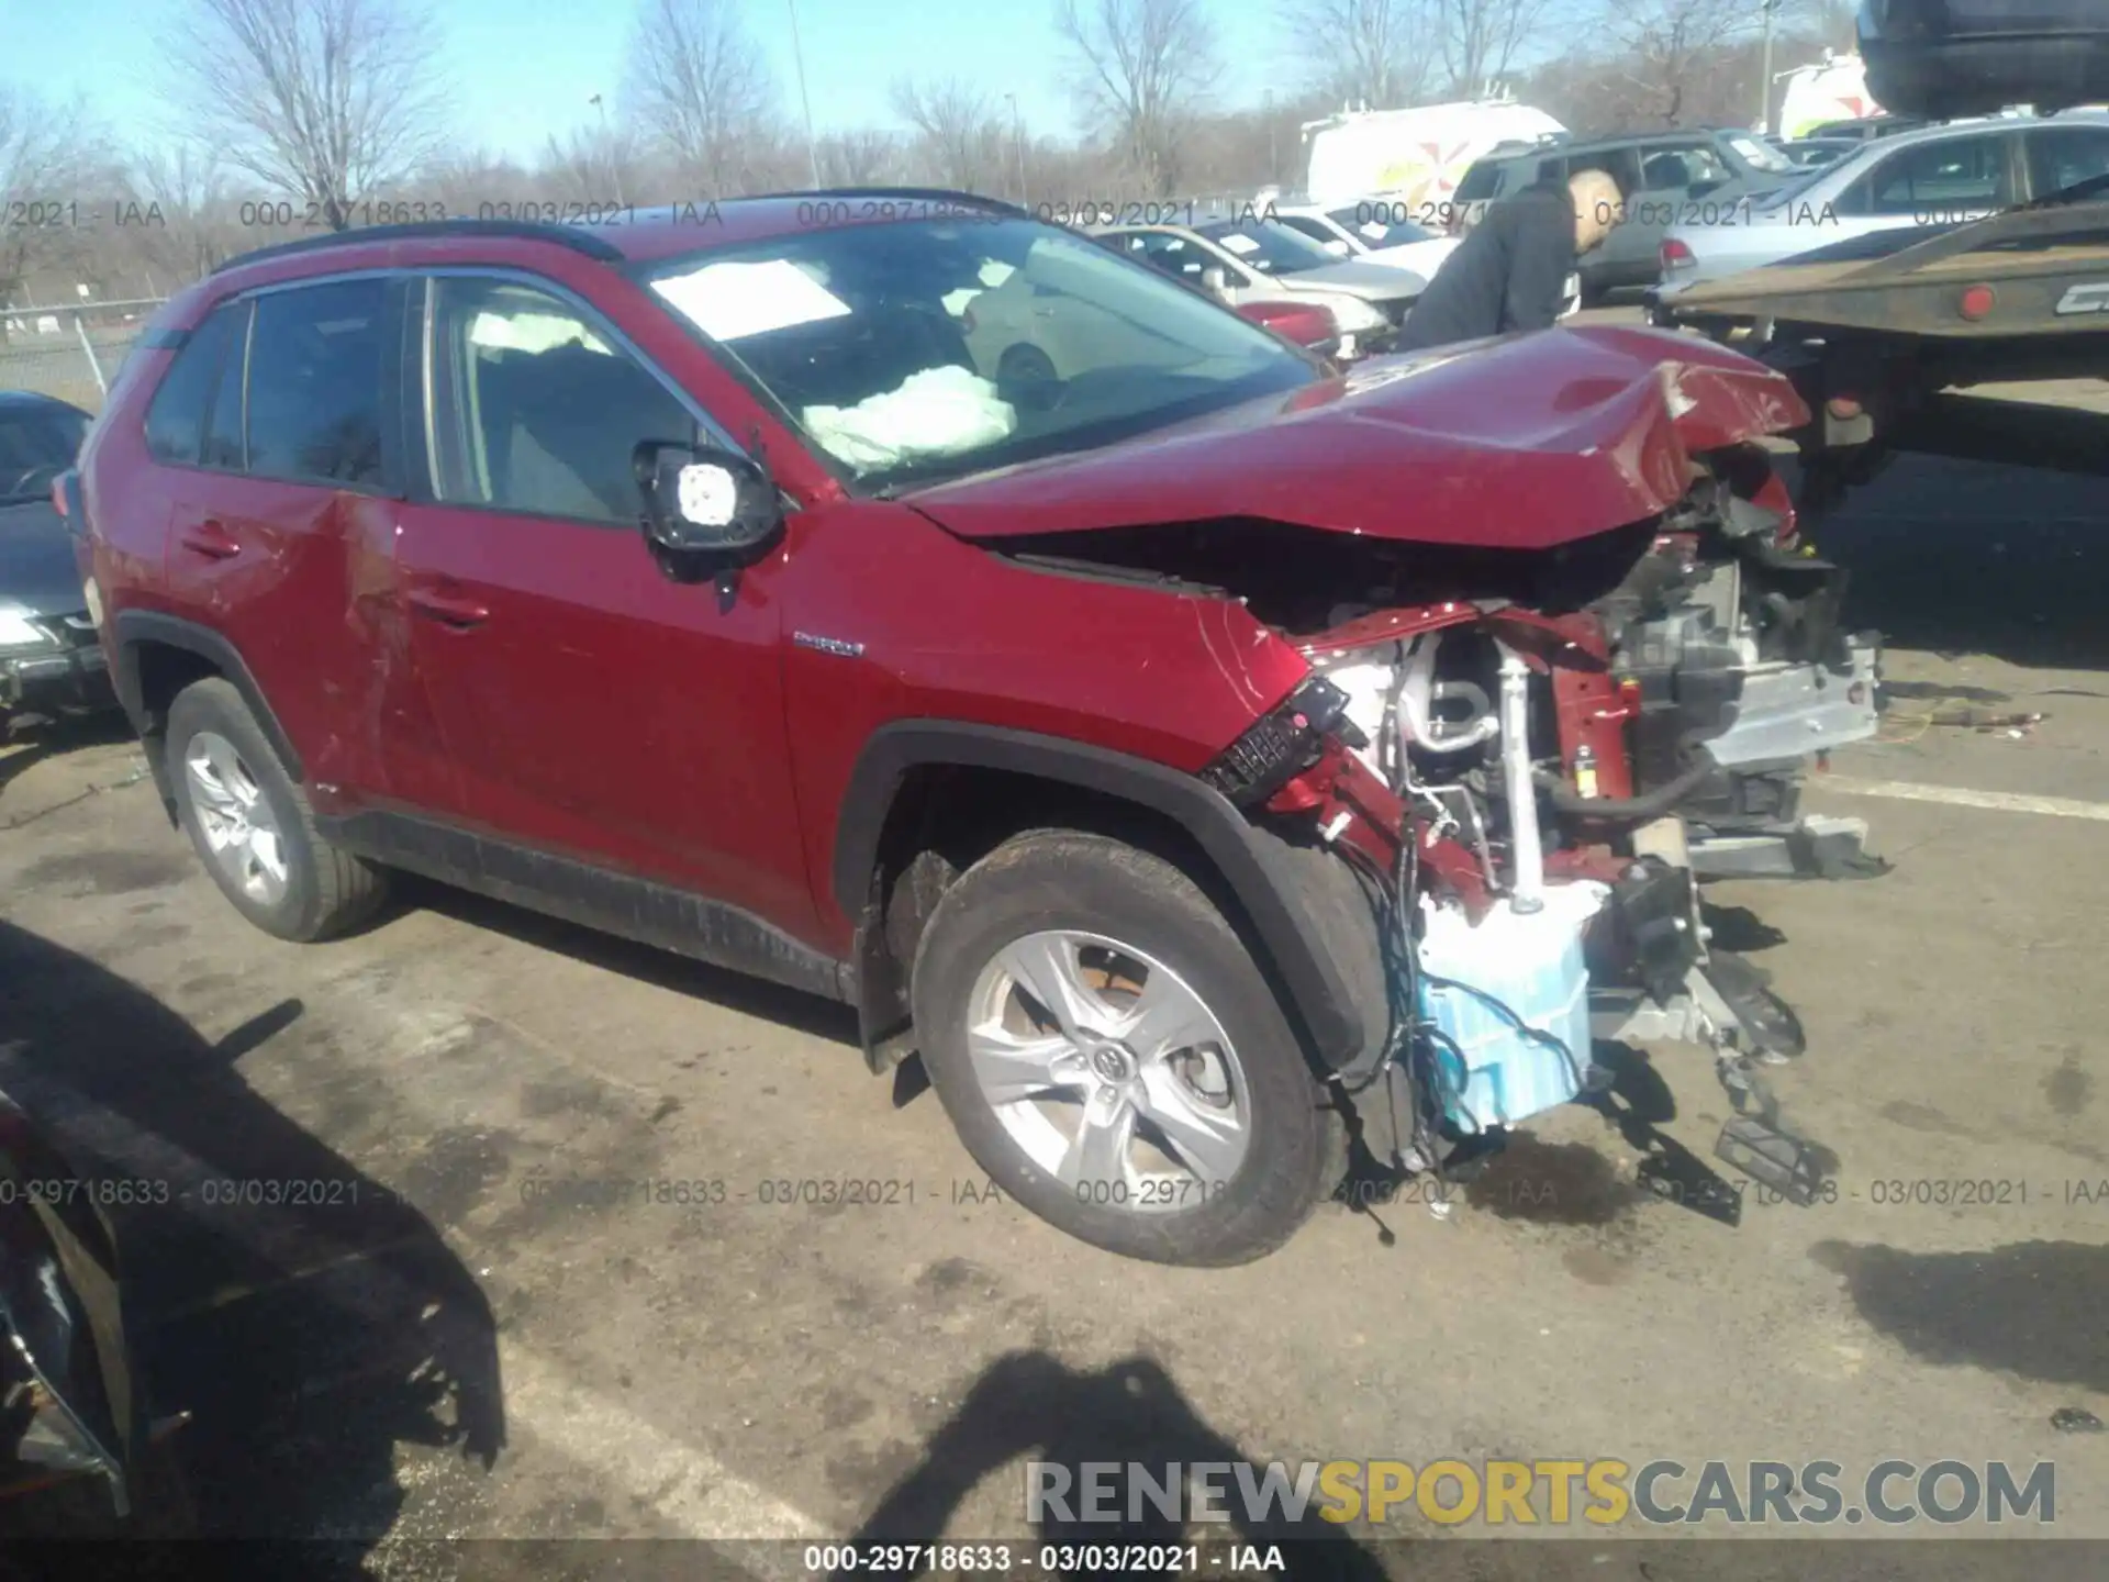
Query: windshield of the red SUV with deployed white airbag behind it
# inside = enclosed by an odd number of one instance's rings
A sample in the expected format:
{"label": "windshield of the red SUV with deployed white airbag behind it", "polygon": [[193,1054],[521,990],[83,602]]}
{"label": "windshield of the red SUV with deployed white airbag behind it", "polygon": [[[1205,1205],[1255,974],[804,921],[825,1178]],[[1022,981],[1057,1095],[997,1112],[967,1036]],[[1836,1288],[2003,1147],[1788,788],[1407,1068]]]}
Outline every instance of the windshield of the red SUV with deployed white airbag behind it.
{"label": "windshield of the red SUV with deployed white airbag behind it", "polygon": [[865,494],[1109,445],[1316,378],[1198,291],[1029,219],[808,230],[645,278]]}

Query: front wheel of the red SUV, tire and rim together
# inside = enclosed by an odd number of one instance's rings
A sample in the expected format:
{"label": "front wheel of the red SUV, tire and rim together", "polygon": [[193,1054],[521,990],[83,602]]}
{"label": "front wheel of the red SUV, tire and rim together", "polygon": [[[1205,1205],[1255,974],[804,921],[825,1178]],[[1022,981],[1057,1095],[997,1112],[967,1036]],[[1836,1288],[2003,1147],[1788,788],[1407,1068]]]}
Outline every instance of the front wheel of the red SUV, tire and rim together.
{"label": "front wheel of the red SUV, tire and rim together", "polygon": [[987,1175],[1059,1230],[1158,1263],[1246,1263],[1318,1204],[1331,1128],[1303,1048],[1179,867],[1017,835],[915,951],[930,1082]]}

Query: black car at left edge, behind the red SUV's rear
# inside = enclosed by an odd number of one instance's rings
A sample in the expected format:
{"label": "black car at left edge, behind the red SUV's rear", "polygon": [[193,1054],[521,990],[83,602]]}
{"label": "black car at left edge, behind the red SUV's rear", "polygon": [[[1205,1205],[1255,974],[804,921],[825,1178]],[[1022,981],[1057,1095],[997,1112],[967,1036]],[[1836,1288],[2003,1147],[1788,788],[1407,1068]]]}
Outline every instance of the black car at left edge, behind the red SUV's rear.
{"label": "black car at left edge, behind the red SUV's rear", "polygon": [[89,413],[0,390],[0,730],[17,713],[112,705],[103,652],[53,483],[80,454]]}

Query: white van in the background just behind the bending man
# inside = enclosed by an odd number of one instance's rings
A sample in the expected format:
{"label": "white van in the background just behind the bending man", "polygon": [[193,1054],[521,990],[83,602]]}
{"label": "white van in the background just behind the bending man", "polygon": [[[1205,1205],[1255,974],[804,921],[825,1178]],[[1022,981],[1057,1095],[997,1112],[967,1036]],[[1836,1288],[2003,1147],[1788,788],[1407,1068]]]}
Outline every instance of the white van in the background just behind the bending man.
{"label": "white van in the background just behind the bending man", "polygon": [[1502,143],[1537,143],[1567,129],[1512,99],[1430,103],[1413,110],[1348,110],[1303,124],[1310,202],[1384,196],[1405,217],[1443,230],[1466,169]]}

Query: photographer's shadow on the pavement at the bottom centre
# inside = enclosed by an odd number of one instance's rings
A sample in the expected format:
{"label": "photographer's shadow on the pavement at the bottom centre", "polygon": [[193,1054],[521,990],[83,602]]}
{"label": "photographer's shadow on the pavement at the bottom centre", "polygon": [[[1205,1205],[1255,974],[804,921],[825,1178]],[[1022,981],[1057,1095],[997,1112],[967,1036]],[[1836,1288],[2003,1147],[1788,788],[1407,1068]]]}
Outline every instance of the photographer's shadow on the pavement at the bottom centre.
{"label": "photographer's shadow on the pavement at the bottom centre", "polygon": [[[1282,1569],[1291,1578],[1341,1578],[1341,1582],[1386,1576],[1375,1555],[1341,1527],[1318,1517],[1318,1500],[1301,1519],[1291,1519],[1278,1502],[1261,1519],[1238,1510],[1234,1474],[1217,1479],[1232,1508],[1227,1523],[1187,1527],[1162,1515],[1149,1500],[1128,1504],[1118,1496],[1118,1521],[1084,1521],[1082,1468],[1086,1462],[1135,1462],[1152,1479],[1164,1479],[1166,1462],[1249,1462],[1244,1449],[1219,1434],[1179,1392],[1170,1375],[1147,1356],[1133,1356],[1099,1371],[1076,1371],[1046,1352],[1010,1352],[991,1363],[968,1390],[960,1409],[924,1445],[922,1460],[903,1477],[858,1527],[856,1544],[932,1544],[968,1493],[991,1472],[1023,1460],[1050,1462],[1069,1474],[1067,1512],[1048,1502],[1038,1512],[1036,1538],[1054,1546],[1185,1544],[1206,1533],[1211,1544],[1282,1544]],[[1263,1477],[1257,1466],[1253,1477]],[[1025,1498],[1023,1464],[1006,1470]],[[1122,1485],[1124,1487],[1124,1485]],[[1316,1491],[1314,1491],[1316,1493]],[[1027,1517],[1033,1512],[1027,1510]],[[1073,1578],[1092,1569],[1061,1571]],[[1118,1563],[1105,1576],[1135,1576]]]}

